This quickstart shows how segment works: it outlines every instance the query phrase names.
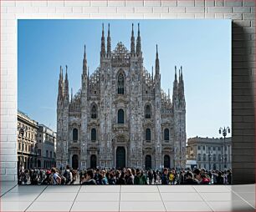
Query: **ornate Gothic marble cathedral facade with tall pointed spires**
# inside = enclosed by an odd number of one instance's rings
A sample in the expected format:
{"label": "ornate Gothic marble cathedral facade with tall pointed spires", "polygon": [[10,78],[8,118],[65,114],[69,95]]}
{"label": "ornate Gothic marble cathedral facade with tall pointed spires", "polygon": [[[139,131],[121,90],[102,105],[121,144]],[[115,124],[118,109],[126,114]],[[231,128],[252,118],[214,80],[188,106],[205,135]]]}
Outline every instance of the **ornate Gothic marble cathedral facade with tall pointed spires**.
{"label": "ornate Gothic marble cathedral facade with tall pointed spires", "polygon": [[140,25],[132,24],[131,48],[105,45],[102,26],[100,66],[90,75],[84,46],[81,88],[69,98],[69,79],[59,73],[57,166],[86,168],[185,168],[186,102],[182,67],[170,92],[161,89],[156,45],[155,73],[143,65]]}

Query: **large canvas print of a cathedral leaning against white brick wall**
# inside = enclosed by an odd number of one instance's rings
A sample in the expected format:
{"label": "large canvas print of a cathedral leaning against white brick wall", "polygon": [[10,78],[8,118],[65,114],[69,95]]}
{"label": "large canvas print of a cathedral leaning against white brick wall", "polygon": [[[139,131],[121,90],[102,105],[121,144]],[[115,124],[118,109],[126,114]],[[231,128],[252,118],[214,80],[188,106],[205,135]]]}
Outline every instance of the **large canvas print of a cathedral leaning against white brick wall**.
{"label": "large canvas print of a cathedral leaning against white brick wall", "polygon": [[18,20],[19,184],[231,184],[230,20]]}

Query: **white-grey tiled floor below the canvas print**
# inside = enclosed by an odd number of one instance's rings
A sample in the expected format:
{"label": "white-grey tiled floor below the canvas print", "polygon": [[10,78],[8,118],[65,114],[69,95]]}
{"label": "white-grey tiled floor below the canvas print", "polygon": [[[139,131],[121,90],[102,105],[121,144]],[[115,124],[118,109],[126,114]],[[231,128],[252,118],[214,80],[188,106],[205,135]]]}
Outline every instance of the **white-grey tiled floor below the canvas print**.
{"label": "white-grey tiled floor below the canvas print", "polygon": [[0,211],[235,210],[255,210],[255,184],[18,186],[1,182]]}

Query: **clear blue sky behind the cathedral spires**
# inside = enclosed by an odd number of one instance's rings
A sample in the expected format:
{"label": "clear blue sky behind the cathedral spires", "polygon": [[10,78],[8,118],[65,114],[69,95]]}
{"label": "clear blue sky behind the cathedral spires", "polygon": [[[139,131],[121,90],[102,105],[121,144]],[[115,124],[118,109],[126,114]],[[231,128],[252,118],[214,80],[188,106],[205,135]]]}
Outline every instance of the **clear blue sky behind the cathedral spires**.
{"label": "clear blue sky behind the cathedral spires", "polygon": [[18,20],[18,109],[56,130],[59,66],[68,65],[76,93],[84,43],[90,73],[100,64],[102,23],[105,37],[110,23],[112,50],[120,41],[130,49],[131,23],[135,36],[140,23],[144,66],[151,73],[157,43],[166,93],[182,65],[187,138],[219,137],[219,127],[231,126],[230,20]]}

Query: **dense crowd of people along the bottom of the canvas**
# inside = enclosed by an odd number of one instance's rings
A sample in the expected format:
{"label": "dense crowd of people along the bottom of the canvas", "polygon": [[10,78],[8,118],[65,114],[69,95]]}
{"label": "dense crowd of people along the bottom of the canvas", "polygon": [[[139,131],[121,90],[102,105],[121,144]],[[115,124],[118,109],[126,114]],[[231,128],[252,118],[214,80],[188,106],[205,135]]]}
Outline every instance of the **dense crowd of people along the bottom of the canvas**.
{"label": "dense crowd of people along the bottom of the canvas", "polygon": [[232,172],[206,169],[26,169],[18,184],[231,184]]}

